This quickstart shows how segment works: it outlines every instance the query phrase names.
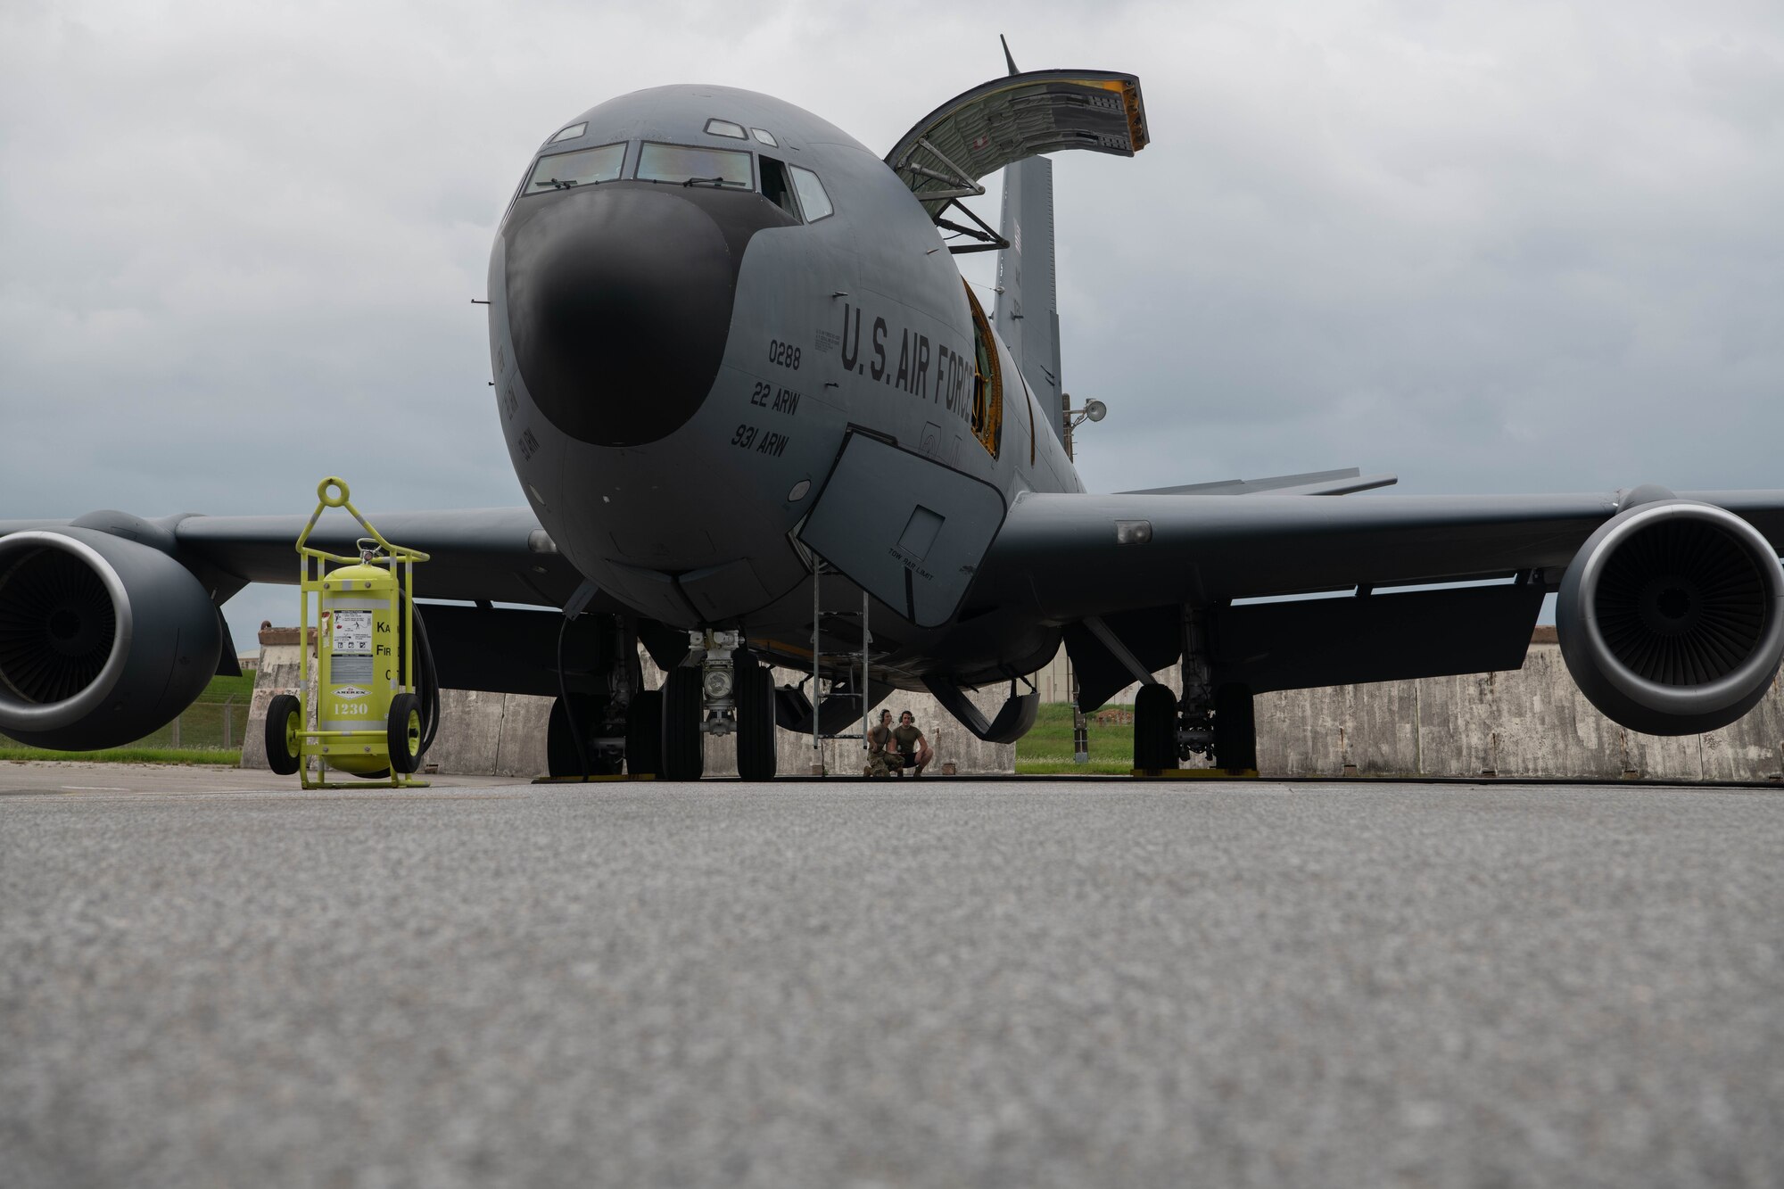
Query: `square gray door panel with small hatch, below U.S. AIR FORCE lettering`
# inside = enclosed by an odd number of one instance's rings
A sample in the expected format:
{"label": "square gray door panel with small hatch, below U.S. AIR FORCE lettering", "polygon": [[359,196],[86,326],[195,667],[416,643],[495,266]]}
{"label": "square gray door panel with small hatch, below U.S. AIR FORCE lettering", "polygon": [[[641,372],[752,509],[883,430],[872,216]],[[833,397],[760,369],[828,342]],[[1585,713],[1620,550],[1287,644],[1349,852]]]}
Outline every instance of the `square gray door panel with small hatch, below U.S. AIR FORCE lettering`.
{"label": "square gray door panel with small hatch, below U.S. AIR FORCE lettering", "polygon": [[942,627],[1003,520],[997,487],[851,432],[799,539],[917,627]]}

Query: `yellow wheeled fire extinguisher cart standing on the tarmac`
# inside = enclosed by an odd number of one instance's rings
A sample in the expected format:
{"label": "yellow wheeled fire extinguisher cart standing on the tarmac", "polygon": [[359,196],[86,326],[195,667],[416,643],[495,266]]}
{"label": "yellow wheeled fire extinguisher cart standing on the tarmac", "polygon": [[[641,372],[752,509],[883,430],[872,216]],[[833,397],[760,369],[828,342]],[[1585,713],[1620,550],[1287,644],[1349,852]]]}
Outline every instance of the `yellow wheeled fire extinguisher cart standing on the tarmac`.
{"label": "yellow wheeled fire extinguisher cart standing on the tarmac", "polygon": [[[300,693],[268,703],[268,762],[277,773],[296,771],[305,789],[328,787],[330,768],[389,787],[425,787],[412,778],[425,746],[416,696],[414,573],[428,555],[385,541],[353,507],[346,480],[330,475],[316,495],[321,502],[298,536]],[[330,507],[346,509],[366,530],[357,557],[309,545]],[[314,628],[310,596],[318,609]],[[314,707],[310,650],[303,646],[310,639],[318,664]],[[314,778],[310,759],[318,761]]]}

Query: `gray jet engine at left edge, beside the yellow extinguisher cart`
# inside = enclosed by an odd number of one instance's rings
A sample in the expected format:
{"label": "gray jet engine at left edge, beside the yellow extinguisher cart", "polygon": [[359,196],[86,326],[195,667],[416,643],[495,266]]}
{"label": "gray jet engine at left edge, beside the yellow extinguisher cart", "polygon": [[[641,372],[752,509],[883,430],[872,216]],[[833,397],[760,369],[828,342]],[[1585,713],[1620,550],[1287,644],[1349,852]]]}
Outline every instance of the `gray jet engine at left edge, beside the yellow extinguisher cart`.
{"label": "gray jet engine at left edge, beside the yellow extinguisher cart", "polygon": [[169,723],[216,673],[223,634],[168,553],[93,528],[0,537],[0,732],[91,750]]}

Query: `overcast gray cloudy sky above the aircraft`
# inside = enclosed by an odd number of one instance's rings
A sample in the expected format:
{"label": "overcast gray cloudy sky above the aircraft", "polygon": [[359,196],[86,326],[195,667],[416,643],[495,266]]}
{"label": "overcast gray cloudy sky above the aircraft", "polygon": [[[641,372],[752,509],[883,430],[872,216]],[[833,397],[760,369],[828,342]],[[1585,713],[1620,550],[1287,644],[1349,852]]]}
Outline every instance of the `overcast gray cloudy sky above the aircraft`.
{"label": "overcast gray cloudy sky above the aircraft", "polygon": [[469,300],[544,136],[717,82],[883,152],[999,32],[1144,86],[1054,161],[1094,489],[1784,487],[1775,2],[5,0],[0,518],[521,503]]}

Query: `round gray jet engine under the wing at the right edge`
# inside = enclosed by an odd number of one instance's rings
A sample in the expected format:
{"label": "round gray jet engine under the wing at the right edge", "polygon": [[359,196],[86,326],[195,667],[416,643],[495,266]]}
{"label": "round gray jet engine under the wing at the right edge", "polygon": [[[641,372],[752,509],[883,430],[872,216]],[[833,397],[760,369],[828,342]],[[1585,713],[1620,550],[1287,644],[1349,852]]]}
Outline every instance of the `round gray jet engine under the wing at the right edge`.
{"label": "round gray jet engine under the wing at the right edge", "polygon": [[1784,571],[1734,512],[1664,495],[1586,537],[1561,578],[1556,634],[1581,693],[1607,718],[1689,736],[1727,727],[1772,687]]}

